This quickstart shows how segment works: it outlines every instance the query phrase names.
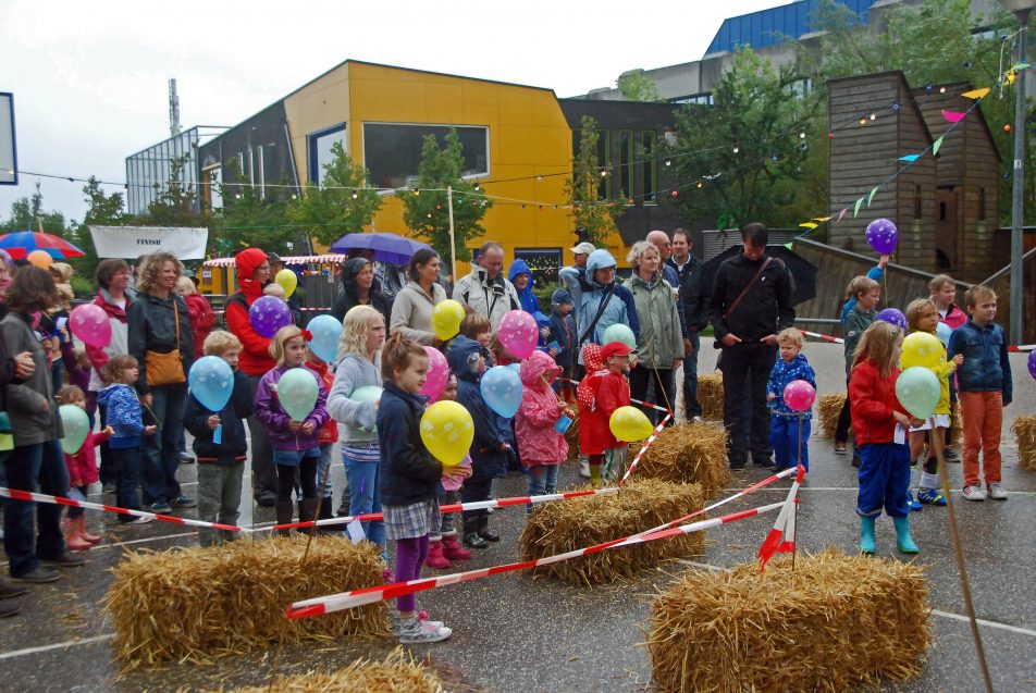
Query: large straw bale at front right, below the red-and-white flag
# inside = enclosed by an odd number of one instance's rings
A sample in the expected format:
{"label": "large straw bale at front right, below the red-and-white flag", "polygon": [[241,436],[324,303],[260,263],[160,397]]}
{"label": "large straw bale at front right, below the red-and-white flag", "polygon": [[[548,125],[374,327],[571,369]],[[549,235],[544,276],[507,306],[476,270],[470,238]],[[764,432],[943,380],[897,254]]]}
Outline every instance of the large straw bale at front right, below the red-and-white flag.
{"label": "large straw bale at front right, below the red-and-white flag", "polygon": [[659,691],[848,691],[917,676],[932,639],[922,569],[899,560],[781,556],[691,571],[652,605]]}

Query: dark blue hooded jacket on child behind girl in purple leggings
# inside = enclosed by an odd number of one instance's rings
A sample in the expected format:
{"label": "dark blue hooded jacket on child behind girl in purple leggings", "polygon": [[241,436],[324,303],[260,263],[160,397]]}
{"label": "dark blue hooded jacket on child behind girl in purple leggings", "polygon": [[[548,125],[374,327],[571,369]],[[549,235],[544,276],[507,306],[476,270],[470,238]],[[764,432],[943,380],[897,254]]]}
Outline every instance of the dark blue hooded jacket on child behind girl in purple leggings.
{"label": "dark blue hooded jacket on child behind girl in purple leggings", "polygon": [[471,477],[496,479],[507,475],[507,454],[503,445],[510,438],[510,423],[490,409],[482,398],[482,374],[476,370],[481,348],[474,339],[462,335],[454,337],[449,343],[446,362],[457,376],[457,401],[474,421]]}

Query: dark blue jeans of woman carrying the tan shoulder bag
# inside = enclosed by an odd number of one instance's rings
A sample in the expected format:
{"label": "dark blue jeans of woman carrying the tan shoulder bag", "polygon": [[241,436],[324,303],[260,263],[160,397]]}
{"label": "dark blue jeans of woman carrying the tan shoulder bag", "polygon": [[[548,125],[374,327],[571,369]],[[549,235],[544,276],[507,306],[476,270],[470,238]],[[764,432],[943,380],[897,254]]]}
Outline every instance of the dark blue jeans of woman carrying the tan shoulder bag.
{"label": "dark blue jeans of woman carrying the tan shoulder bag", "polygon": [[147,409],[145,423],[157,423],[153,435],[140,443],[140,488],[144,504],[172,503],[181,496],[176,470],[180,469],[180,434],[184,428],[184,405],[187,385],[158,385],[151,388],[151,419]]}

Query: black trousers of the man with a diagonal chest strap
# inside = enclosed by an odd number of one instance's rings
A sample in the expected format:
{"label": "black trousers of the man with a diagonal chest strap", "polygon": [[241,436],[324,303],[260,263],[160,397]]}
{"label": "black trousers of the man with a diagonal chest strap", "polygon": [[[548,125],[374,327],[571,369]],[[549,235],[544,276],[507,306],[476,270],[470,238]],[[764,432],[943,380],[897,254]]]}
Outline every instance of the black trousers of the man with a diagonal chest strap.
{"label": "black trousers of the man with a diagonal chest strap", "polygon": [[[732,467],[748,461],[749,448],[752,458],[763,462],[769,459],[773,449],[769,443],[769,411],[766,408],[766,381],[777,360],[777,347],[762,342],[742,342],[723,347],[723,425],[727,430],[727,458]],[[750,405],[741,393],[748,391]],[[751,434],[744,431],[747,421]]]}

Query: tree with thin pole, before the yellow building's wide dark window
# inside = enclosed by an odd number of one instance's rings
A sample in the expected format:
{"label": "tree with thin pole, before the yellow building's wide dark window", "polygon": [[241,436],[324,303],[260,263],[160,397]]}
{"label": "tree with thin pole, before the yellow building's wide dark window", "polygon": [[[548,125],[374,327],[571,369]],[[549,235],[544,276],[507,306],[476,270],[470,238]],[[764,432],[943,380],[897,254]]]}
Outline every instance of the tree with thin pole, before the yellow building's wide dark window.
{"label": "tree with thin pole, before the yellow building's wide dark window", "polygon": [[449,259],[449,209],[446,188],[453,187],[454,251],[457,260],[470,260],[468,242],[485,234],[482,219],[493,207],[474,183],[464,180],[464,152],[457,131],[449,128],[444,146],[434,135],[425,135],[421,164],[414,190],[396,193],[403,201],[407,227],[428,240],[440,257]]}

